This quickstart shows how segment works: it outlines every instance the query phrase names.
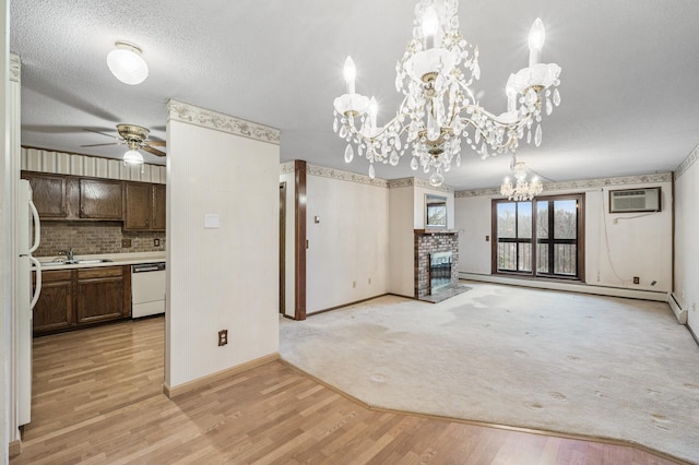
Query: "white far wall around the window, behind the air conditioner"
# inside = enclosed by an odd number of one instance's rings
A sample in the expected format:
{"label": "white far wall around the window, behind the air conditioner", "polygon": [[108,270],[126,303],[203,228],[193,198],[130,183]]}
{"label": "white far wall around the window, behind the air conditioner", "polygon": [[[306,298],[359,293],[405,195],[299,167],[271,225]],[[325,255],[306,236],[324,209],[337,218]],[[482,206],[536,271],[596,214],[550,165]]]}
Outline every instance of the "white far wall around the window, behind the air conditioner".
{"label": "white far wall around the window, behind the air conditioner", "polygon": [[[659,213],[609,214],[609,190],[662,188]],[[547,184],[546,194],[585,193],[585,282],[592,286],[668,293],[672,288],[672,181],[670,175]],[[478,195],[478,193],[482,193]],[[490,274],[493,190],[457,193],[462,273]],[[616,220],[616,223],[615,223]],[[493,240],[493,238],[490,238]],[[633,276],[640,284],[632,283]],[[651,283],[655,281],[655,284]]]}

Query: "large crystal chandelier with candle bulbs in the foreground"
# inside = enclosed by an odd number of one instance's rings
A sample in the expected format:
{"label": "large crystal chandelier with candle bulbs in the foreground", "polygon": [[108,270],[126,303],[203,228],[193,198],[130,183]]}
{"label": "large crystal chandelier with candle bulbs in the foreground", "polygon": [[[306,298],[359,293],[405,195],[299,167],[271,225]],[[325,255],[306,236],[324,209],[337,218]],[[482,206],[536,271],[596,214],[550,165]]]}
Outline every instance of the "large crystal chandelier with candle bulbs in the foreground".
{"label": "large crystal chandelier with candle bulbs in the foreground", "polygon": [[[378,105],[355,92],[356,70],[345,61],[346,94],[334,100],[333,129],[347,141],[345,162],[356,153],[374,163],[398,165],[412,148],[411,167],[433,171],[429,182],[443,182],[452,162],[461,165],[462,141],[482,158],[514,153],[520,139],[538,146],[542,112],[560,104],[560,67],[540,63],[544,24],[534,22],[529,36],[529,67],[507,81],[507,111],[495,116],[476,100],[471,85],[481,78],[478,48],[459,32],[458,0],[419,0],[415,7],[413,38],[395,65],[395,90],[404,95],[390,121],[377,127]],[[532,136],[533,134],[533,136]]]}

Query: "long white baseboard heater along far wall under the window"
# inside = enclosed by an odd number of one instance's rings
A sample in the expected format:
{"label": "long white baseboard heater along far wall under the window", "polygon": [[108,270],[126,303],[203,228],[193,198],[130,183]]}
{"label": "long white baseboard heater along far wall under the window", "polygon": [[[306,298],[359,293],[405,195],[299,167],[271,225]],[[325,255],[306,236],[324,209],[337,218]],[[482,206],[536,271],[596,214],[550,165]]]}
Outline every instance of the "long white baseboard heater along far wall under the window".
{"label": "long white baseboard heater along far wall under the window", "polygon": [[670,293],[655,291],[655,290],[636,290],[636,289],[623,289],[619,287],[591,286],[588,284],[577,284],[577,283],[520,279],[516,277],[463,273],[463,272],[459,272],[459,277],[461,279],[481,281],[484,283],[507,284],[510,286],[535,287],[538,289],[568,290],[570,293],[594,294],[597,296],[626,297],[629,299],[654,300],[659,302],[667,302],[670,300]]}

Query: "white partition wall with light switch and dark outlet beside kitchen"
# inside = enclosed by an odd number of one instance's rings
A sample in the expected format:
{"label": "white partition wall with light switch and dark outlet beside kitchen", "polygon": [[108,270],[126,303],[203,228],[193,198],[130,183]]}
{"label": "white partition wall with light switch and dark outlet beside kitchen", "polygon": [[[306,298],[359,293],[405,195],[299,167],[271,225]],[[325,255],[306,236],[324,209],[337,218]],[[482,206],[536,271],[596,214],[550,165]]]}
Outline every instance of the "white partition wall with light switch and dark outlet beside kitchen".
{"label": "white partition wall with light switch and dark outlet beside kitchen", "polygon": [[[169,104],[169,388],[279,351],[280,148],[189,122],[230,120]],[[240,120],[223,127],[247,128]],[[204,228],[206,214],[218,215],[218,228]],[[228,345],[218,347],[217,333],[224,329]]]}

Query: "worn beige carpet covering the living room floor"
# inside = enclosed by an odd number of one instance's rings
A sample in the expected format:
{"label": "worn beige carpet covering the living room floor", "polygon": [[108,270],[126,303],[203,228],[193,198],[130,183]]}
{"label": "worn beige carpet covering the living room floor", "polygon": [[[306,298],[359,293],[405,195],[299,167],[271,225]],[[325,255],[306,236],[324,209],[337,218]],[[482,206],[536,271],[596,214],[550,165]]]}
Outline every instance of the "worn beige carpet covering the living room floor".
{"label": "worn beige carpet covering the living room floor", "polygon": [[699,463],[699,346],[666,303],[467,283],[282,319],[282,358],[369,405],[620,439]]}

